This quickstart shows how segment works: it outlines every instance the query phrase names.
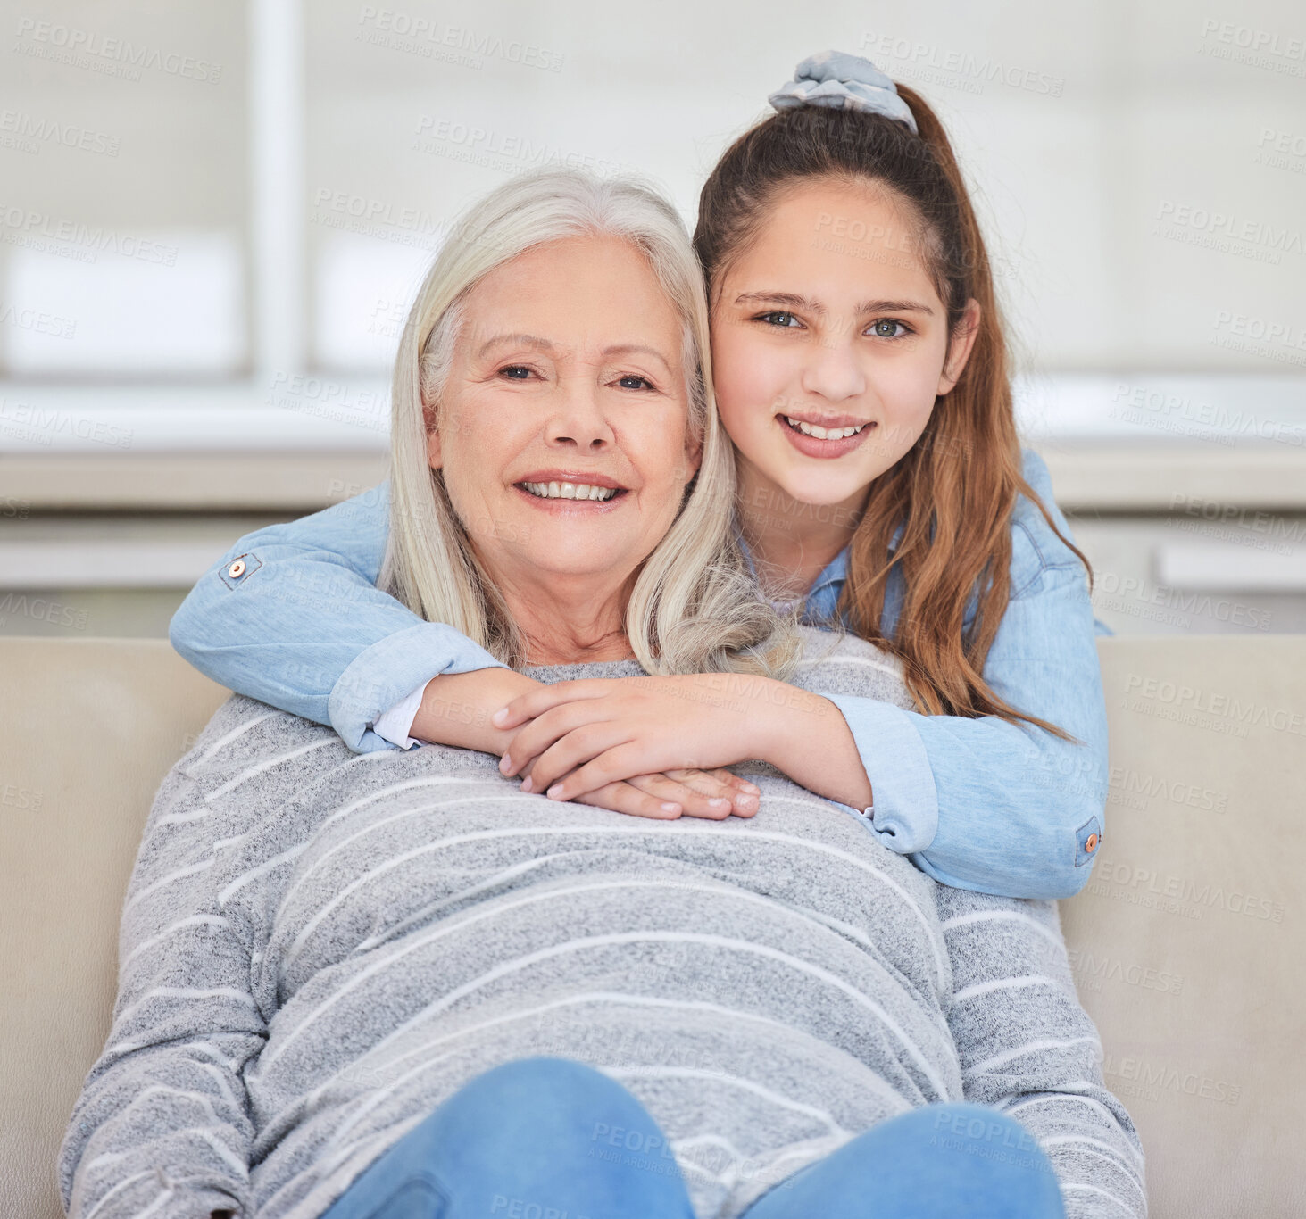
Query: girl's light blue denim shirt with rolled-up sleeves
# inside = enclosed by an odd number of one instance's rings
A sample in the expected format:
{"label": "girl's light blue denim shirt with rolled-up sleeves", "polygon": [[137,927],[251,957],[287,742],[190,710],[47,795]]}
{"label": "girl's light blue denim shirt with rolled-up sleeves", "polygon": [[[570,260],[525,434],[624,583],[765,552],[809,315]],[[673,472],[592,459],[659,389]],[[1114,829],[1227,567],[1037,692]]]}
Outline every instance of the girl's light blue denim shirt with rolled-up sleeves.
{"label": "girl's light blue denim shirt with rolled-up sleeves", "polygon": [[[1062,532],[1047,467],[1024,474]],[[242,538],[172,619],[172,646],[251,698],[332,726],[357,752],[396,748],[372,726],[440,673],[500,666],[466,636],[427,623],[376,587],[389,487]],[[807,594],[828,624],[848,572],[840,553]],[[902,604],[895,569],[883,630]],[[1106,705],[1084,568],[1024,496],[1012,519],[1011,600],[985,660],[990,688],[1080,744],[996,717],[921,715],[872,698],[828,696],[853,732],[874,792],[859,820],[946,885],[1017,898],[1064,898],[1101,854],[1107,787]],[[846,805],[841,805],[846,808]]]}

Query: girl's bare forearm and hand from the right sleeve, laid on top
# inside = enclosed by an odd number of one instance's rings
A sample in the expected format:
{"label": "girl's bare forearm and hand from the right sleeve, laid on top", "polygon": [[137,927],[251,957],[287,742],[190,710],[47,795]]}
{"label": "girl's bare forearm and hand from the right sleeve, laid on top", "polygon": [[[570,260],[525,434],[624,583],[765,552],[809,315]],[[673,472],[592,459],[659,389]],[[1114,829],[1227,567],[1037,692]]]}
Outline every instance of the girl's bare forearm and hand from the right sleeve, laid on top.
{"label": "girl's bare forearm and hand from the right sleeve, laid on top", "polygon": [[512,733],[499,769],[522,791],[576,800],[678,766],[771,762],[808,791],[866,808],[866,767],[828,698],[769,677],[690,673],[541,685],[490,717]]}

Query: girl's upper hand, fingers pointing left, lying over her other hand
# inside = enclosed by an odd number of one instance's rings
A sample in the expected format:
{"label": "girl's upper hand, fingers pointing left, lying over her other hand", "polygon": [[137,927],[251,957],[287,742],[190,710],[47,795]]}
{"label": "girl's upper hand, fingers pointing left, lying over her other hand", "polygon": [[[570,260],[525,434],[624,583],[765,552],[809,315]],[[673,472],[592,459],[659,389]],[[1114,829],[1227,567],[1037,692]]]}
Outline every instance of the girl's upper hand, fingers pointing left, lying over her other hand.
{"label": "girl's upper hand, fingers pointing left, lying over her other hand", "polygon": [[529,771],[522,791],[575,800],[636,775],[765,757],[771,705],[811,697],[735,673],[596,677],[538,687],[491,722],[503,731],[516,728],[499,764],[505,775]]}

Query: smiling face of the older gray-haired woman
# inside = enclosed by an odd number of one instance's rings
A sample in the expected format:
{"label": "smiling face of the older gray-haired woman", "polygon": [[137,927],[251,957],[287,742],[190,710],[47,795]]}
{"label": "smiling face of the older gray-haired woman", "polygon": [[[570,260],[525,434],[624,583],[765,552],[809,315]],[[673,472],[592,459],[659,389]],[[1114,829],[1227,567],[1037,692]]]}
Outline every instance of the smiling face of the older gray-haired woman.
{"label": "smiling face of the older gray-haired woman", "polygon": [[696,469],[675,307],[639,248],[582,235],[488,271],[465,309],[477,342],[453,350],[428,457],[458,516],[494,522],[479,561],[533,604],[541,569],[619,600]]}

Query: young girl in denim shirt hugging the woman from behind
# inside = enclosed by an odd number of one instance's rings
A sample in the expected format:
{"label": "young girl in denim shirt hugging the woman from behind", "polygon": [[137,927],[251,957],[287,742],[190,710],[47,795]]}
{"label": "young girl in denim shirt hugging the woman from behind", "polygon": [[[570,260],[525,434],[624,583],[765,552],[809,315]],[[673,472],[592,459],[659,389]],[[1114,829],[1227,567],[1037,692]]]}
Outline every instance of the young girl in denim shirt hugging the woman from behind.
{"label": "young girl in denim shirt hugging the woman from behind", "polygon": [[[771,102],[708,177],[695,232],[738,527],[768,596],[900,658],[918,705],[832,696],[867,782],[821,794],[943,884],[1068,897],[1100,850],[1106,794],[1088,564],[1046,467],[1020,450],[952,149],[914,91],[854,56],[804,60]],[[714,700],[720,743],[788,687],[533,683],[504,664],[526,658],[492,624],[469,640],[426,621],[417,590],[376,587],[389,512],[381,484],[247,535],[178,611],[174,646],[359,752],[424,739],[502,753],[504,774],[554,799],[648,812],[631,792],[675,791],[661,814],[756,809],[744,784],[710,810],[671,786],[703,786],[671,770],[704,760],[683,709]]]}

